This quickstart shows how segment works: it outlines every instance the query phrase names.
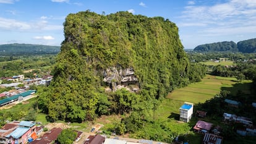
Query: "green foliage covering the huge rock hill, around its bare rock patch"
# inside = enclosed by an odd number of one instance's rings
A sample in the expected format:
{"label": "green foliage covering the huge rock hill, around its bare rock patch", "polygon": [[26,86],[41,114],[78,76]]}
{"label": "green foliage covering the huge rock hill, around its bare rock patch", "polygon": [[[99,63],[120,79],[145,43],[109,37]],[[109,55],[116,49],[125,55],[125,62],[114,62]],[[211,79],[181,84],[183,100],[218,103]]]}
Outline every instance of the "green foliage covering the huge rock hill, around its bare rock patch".
{"label": "green foliage covering the huge rock hill, around its bare rock patch", "polygon": [[[128,113],[125,124],[132,132],[153,121],[158,100],[169,91],[205,75],[205,67],[189,63],[178,28],[163,17],[78,12],[67,15],[64,34],[54,78],[38,98],[49,121],[82,122]],[[109,67],[132,67],[139,92],[107,93],[103,71]]]}

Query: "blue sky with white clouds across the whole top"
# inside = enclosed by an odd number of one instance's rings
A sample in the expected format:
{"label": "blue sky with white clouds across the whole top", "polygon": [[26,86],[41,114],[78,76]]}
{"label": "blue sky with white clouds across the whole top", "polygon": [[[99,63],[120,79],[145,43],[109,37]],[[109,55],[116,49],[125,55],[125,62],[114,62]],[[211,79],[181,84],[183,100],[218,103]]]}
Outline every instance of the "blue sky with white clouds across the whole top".
{"label": "blue sky with white clouds across the whole top", "polygon": [[186,49],[256,38],[256,0],[0,0],[0,44],[60,46],[65,17],[88,9],[169,19]]}

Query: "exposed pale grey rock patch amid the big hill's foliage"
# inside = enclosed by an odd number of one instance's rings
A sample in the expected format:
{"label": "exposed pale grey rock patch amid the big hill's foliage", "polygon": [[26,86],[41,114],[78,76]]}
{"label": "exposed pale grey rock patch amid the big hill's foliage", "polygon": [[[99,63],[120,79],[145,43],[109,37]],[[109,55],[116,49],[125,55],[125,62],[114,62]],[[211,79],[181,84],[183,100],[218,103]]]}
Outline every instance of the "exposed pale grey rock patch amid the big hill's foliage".
{"label": "exposed pale grey rock patch amid the big hill's foliage", "polygon": [[103,81],[109,83],[111,90],[116,91],[119,88],[123,88],[122,85],[137,84],[138,78],[134,74],[134,69],[121,67],[110,67],[103,72]]}

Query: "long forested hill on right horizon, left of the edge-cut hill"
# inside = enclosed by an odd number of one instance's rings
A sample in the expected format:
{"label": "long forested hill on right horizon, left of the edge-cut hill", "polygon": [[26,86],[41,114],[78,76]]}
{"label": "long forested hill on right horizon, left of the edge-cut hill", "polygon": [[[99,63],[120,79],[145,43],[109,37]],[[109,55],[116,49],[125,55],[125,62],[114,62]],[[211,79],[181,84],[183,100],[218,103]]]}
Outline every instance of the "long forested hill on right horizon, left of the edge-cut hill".
{"label": "long forested hill on right horizon, left of the edge-cut hill", "polygon": [[234,41],[223,41],[218,43],[202,44],[195,47],[194,51],[238,51]]}

